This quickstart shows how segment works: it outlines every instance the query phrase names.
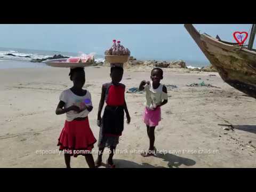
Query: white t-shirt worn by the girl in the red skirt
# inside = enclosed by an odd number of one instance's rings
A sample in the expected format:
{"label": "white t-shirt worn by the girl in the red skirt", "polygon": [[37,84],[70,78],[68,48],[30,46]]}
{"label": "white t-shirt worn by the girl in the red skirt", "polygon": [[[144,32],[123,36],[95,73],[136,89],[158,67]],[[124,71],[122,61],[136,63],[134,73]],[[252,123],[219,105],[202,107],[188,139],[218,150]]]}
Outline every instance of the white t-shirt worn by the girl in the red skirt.
{"label": "white t-shirt worn by the girl in the red skirt", "polygon": [[[75,105],[80,109],[84,109],[85,105],[92,106],[91,93],[88,90],[84,96],[78,96],[70,89],[65,90],[60,94],[60,101],[65,102],[64,108]],[[90,112],[87,109],[83,110],[81,113],[77,113],[76,111],[71,110],[66,113],[66,119],[70,122],[78,117],[87,117],[89,113]]]}

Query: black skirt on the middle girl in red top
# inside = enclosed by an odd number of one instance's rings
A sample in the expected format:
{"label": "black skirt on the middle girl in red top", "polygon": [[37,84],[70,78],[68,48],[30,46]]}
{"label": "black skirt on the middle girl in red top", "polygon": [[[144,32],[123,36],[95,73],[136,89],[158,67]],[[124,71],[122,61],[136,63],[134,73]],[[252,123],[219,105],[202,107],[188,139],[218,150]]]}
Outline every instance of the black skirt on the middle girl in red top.
{"label": "black skirt on the middle girl in red top", "polygon": [[102,134],[121,136],[124,130],[124,107],[106,106],[102,117]]}

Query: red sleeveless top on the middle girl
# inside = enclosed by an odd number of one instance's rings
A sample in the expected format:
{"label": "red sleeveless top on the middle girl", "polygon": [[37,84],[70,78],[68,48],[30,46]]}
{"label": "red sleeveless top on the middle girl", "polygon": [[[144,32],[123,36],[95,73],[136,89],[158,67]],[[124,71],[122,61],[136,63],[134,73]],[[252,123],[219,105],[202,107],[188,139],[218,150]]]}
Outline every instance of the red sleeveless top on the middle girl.
{"label": "red sleeveless top on the middle girl", "polygon": [[113,83],[103,84],[106,89],[105,101],[108,106],[123,106],[124,105],[124,92],[125,85],[118,83],[114,85]]}

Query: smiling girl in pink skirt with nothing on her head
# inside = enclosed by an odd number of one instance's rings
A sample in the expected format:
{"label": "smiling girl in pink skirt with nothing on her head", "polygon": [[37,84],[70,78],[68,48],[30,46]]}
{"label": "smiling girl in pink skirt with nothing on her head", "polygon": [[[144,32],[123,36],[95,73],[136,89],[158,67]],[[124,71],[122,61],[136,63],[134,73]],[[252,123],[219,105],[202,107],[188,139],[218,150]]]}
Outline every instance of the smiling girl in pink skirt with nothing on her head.
{"label": "smiling girl in pink skirt with nothing on her head", "polygon": [[163,70],[154,68],[151,71],[151,81],[142,81],[140,83],[140,91],[146,91],[146,108],[143,114],[143,121],[147,125],[147,133],[149,138],[149,150],[142,153],[143,157],[154,155],[155,127],[161,121],[161,106],[165,105],[168,100],[166,86],[160,81],[163,79]]}

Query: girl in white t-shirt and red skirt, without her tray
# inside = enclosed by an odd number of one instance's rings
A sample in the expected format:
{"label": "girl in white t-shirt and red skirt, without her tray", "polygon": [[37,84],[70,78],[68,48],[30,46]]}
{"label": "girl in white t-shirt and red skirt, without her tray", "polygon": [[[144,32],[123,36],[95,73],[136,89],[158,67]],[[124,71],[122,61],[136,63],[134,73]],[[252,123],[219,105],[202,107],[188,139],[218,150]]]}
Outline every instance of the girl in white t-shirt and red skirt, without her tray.
{"label": "girl in white t-shirt and red skirt, without her tray", "polygon": [[97,141],[91,131],[88,114],[92,111],[92,99],[88,90],[83,90],[85,83],[84,68],[70,69],[70,80],[74,86],[60,95],[60,102],[56,114],[66,113],[65,125],[60,133],[58,146],[64,150],[65,163],[70,168],[70,156],[85,156],[90,168],[94,168],[91,153]]}

